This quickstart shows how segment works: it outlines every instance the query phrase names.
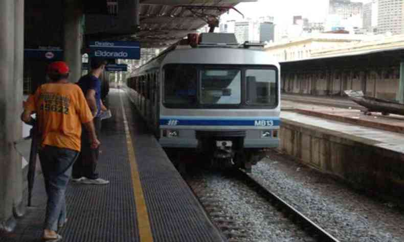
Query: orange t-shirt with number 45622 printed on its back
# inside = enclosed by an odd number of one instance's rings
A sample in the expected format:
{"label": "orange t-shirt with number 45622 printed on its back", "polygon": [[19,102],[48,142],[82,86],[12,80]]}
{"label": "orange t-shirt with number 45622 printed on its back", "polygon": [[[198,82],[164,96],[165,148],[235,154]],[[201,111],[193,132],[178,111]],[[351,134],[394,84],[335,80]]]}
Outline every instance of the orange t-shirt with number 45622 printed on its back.
{"label": "orange t-shirt with number 45622 printed on its back", "polygon": [[81,148],[81,124],[93,120],[84,94],[72,83],[47,83],[30,95],[26,110],[36,112],[42,146]]}

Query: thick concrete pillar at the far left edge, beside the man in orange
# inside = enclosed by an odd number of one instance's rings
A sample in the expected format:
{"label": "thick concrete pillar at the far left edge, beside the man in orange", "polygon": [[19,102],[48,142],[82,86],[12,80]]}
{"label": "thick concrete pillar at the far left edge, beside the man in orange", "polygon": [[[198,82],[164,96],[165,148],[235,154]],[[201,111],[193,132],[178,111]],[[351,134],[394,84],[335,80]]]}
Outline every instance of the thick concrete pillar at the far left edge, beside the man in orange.
{"label": "thick concrete pillar at the far left edge, beside the man in orange", "polygon": [[15,119],[22,109],[24,0],[0,1],[0,233],[22,215],[21,157],[14,141],[21,137]]}

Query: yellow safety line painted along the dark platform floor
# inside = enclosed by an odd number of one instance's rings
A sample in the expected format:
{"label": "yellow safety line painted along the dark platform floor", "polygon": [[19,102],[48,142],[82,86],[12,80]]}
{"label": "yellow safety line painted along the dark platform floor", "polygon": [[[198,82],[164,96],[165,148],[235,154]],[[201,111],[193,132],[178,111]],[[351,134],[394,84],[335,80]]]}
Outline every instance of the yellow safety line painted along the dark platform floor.
{"label": "yellow safety line painted along the dark platform floor", "polygon": [[140,182],[138,163],[136,162],[136,157],[134,156],[133,142],[130,136],[130,130],[126,119],[125,108],[123,105],[121,92],[119,92],[119,99],[121,100],[123,123],[125,125],[126,144],[128,148],[130,172],[132,174],[133,195],[134,195],[134,202],[136,203],[140,242],[153,242],[153,235],[151,233],[150,228],[149,214],[147,213],[147,206],[143,194],[142,183]]}

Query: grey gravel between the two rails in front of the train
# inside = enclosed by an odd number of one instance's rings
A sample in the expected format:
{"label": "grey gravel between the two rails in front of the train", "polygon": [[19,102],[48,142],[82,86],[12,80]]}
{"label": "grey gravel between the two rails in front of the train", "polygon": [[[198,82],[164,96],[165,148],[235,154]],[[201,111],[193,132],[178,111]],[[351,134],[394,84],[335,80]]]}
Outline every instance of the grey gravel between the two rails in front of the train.
{"label": "grey gravel between the two rails in front of the train", "polygon": [[213,172],[187,180],[203,203],[214,200],[219,207],[207,209],[213,221],[218,216],[234,221],[238,229],[231,231],[236,239],[230,241],[316,241],[242,181]]}

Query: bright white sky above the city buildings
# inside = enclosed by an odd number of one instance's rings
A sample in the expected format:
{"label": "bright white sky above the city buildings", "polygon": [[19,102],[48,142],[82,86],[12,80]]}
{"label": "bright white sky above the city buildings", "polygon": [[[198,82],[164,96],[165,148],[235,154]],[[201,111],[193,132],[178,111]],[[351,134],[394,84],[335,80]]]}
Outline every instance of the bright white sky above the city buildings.
{"label": "bright white sky above the city buildings", "polygon": [[[352,2],[367,3],[369,0],[357,0]],[[241,3],[236,8],[245,17],[273,16],[277,25],[289,25],[293,22],[294,15],[302,15],[311,22],[324,21],[328,13],[328,0],[258,0],[253,3]],[[236,19],[242,17],[231,10],[225,13],[222,20]]]}

